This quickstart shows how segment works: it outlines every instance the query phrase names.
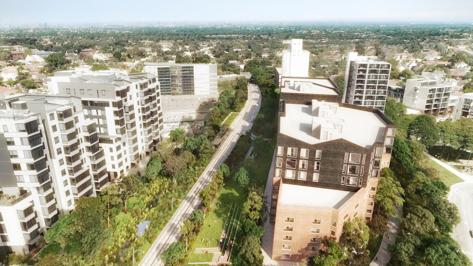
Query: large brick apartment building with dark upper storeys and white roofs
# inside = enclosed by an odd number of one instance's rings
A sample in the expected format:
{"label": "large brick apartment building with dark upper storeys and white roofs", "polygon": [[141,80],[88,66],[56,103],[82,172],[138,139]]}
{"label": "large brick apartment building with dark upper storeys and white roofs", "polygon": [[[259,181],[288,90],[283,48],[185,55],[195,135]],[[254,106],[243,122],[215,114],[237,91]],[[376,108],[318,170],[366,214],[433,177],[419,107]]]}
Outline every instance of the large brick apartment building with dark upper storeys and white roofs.
{"label": "large brick apartment building with dark upper storeys and white roofs", "polygon": [[341,103],[329,79],[281,84],[270,222],[273,260],[307,262],[324,236],[354,217],[370,220],[395,124],[379,109]]}

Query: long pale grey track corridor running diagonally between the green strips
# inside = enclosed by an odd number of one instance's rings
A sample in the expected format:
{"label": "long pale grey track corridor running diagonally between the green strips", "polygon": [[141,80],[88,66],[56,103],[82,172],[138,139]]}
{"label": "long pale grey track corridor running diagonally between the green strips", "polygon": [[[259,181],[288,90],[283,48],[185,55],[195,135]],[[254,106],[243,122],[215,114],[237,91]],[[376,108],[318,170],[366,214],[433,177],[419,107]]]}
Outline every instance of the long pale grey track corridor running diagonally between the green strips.
{"label": "long pale grey track corridor running diagonally between the green strips", "polygon": [[179,208],[175,211],[171,220],[166,224],[158,238],[154,241],[148,253],[140,261],[140,266],[161,266],[164,263],[161,261],[161,253],[166,250],[171,243],[178,241],[181,238],[179,230],[181,222],[188,219],[193,210],[200,204],[199,191],[205,188],[209,183],[213,173],[217,170],[220,164],[227,159],[228,154],[232,151],[236,141],[241,134],[245,133],[251,128],[251,122],[255,114],[261,106],[261,94],[256,85],[248,85],[248,100],[245,103],[240,115],[238,115],[230,126],[225,139],[220,143],[219,148],[214,153],[209,165],[202,172],[201,176],[195,182],[192,189],[185,196]]}

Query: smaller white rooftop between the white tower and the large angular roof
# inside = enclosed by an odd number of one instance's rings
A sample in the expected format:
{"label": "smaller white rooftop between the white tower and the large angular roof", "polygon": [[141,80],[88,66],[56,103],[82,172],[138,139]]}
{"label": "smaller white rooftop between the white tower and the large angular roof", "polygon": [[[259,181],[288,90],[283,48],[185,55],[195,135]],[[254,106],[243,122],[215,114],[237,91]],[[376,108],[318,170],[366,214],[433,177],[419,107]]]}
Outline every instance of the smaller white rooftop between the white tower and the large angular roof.
{"label": "smaller white rooftop between the white tower and the large angular roof", "polygon": [[[284,83],[281,88],[282,93],[308,93],[308,94],[324,94],[339,95],[329,80],[320,79],[314,81],[293,81]],[[322,85],[322,86],[321,86]],[[330,88],[326,88],[326,87]]]}

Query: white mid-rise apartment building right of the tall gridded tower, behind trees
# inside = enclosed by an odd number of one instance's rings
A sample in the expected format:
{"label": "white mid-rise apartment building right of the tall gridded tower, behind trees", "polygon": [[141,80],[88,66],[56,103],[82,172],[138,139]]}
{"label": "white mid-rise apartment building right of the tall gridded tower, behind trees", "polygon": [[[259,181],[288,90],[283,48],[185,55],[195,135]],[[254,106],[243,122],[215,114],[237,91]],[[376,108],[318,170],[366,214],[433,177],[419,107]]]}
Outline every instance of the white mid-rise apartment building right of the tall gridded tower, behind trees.
{"label": "white mid-rise apartment building right of the tall gridded tower, behind trees", "polygon": [[438,83],[438,80],[406,80],[403,104],[421,114],[444,119],[454,113],[454,104],[450,103],[451,94],[452,86]]}

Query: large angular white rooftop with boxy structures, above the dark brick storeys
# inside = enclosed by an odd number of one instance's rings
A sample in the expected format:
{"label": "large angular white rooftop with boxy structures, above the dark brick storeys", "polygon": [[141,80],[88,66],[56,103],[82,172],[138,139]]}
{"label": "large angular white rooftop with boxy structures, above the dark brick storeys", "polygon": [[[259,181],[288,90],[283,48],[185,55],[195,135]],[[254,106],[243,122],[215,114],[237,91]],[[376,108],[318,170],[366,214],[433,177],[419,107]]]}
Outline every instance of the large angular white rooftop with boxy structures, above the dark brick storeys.
{"label": "large angular white rooftop with boxy structures, above the dark brick storeys", "polygon": [[366,149],[382,142],[386,123],[376,113],[312,101],[312,105],[286,104],[280,117],[280,133],[316,144],[345,139]]}

